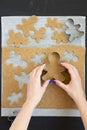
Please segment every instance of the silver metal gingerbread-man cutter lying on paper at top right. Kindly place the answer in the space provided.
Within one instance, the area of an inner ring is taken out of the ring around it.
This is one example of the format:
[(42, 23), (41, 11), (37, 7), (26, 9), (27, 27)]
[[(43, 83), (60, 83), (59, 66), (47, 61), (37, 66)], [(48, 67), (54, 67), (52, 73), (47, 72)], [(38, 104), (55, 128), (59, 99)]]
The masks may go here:
[(70, 42), (83, 36), (84, 32), (79, 30), (80, 24), (75, 25), (73, 19), (68, 19), (65, 25), (67, 26), (65, 33), (69, 35)]

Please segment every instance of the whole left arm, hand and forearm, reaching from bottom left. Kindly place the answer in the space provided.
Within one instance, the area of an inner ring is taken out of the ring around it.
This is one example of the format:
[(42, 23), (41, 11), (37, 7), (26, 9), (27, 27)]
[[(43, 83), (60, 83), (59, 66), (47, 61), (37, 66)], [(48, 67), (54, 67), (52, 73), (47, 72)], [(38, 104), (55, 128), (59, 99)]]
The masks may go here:
[(16, 119), (12, 123), (9, 130), (27, 130), (32, 113), (36, 105), (40, 102), (48, 84), (49, 80), (41, 86), (41, 74), (45, 64), (36, 67), (30, 73), (30, 80), (27, 87), (27, 98), (22, 106), (21, 111), (18, 113)]

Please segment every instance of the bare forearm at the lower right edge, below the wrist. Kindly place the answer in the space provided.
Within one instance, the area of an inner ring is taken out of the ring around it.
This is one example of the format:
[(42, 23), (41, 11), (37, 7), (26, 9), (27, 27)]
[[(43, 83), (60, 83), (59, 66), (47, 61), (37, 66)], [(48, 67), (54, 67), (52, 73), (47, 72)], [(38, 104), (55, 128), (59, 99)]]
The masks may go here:
[(80, 98), (76, 102), (76, 104), (77, 104), (77, 107), (78, 107), (78, 109), (80, 111), (85, 130), (87, 130), (87, 101), (83, 97), (82, 99)]

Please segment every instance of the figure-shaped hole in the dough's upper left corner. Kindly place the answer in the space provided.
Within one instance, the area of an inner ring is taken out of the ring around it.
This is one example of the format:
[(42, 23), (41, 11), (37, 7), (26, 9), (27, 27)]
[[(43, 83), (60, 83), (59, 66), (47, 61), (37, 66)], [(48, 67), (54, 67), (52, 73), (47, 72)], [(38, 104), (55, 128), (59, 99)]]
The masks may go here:
[(6, 64), (13, 64), (13, 67), (22, 67), (25, 69), (28, 66), (28, 63), (21, 59), (21, 55), (16, 55), (15, 51), (10, 51), (10, 58), (6, 60)]

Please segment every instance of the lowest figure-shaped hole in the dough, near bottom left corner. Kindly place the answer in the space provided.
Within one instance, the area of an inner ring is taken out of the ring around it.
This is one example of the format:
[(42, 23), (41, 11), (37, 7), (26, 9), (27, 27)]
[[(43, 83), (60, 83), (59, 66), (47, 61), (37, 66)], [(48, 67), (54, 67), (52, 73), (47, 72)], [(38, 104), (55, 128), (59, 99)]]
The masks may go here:
[(11, 94), (11, 96), (8, 96), (7, 99), (10, 101), (10, 105), (12, 105), (13, 103), (18, 103), (20, 98), (23, 97), (23, 93), (15, 93), (13, 92)]

